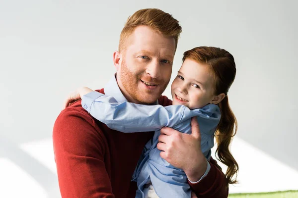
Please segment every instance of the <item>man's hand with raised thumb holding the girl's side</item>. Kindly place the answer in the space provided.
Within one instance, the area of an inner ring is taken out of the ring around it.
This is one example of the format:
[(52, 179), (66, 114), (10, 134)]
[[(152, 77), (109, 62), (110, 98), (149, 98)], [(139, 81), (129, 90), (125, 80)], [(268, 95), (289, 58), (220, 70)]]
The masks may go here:
[(184, 170), (190, 181), (201, 179), (207, 169), (207, 159), (201, 151), (201, 133), (196, 117), (191, 119), (191, 134), (169, 127), (160, 130), (157, 148), (160, 156), (176, 168)]

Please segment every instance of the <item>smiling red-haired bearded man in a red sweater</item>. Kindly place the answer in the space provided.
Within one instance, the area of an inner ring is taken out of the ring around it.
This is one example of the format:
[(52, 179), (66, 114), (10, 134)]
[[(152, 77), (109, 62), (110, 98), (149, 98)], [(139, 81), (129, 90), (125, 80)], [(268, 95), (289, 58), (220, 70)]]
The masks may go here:
[[(118, 102), (170, 105), (161, 96), (169, 83), (181, 27), (159, 9), (134, 13), (121, 32), (114, 52), (115, 77), (98, 90)], [(195, 119), (194, 119), (195, 120)], [(58, 116), (53, 130), (55, 160), (63, 198), (135, 198), (131, 182), (145, 144), (153, 132), (121, 133), (91, 117), (80, 101)], [(226, 198), (227, 182), (221, 168), (207, 162), (200, 149), (200, 132), (163, 128), (157, 148), (161, 157), (185, 171), (198, 198)]]

